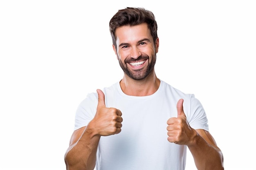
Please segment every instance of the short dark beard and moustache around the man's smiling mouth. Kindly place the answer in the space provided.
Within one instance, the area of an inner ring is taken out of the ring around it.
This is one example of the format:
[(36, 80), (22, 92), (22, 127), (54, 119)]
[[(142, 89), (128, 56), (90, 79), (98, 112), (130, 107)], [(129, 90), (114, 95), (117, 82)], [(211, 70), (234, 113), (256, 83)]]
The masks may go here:
[[(119, 58), (119, 57), (118, 57)], [(130, 78), (135, 79), (135, 80), (141, 80), (146, 78), (153, 70), (155, 67), (155, 62), (156, 62), (156, 54), (155, 56), (152, 55), (152, 60), (149, 61), (148, 66), (145, 68), (139, 68), (137, 70), (130, 70), (126, 64), (129, 64), (130, 62), (137, 62), (137, 61), (141, 61), (141, 60), (149, 60), (149, 56), (148, 55), (141, 55), (139, 56), (137, 59), (133, 59), (133, 58), (129, 58), (124, 60), (124, 63), (122, 63), (122, 61), (119, 59), (119, 65), (122, 68), (122, 70), (124, 71), (124, 73), (126, 75), (128, 75)]]

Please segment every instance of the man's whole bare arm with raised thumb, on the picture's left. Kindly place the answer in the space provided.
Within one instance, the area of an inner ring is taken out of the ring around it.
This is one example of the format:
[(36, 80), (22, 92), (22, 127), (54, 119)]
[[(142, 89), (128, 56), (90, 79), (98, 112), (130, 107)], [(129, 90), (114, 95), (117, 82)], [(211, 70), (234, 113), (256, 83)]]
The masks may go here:
[(104, 93), (100, 90), (97, 92), (99, 100), (94, 118), (87, 126), (75, 130), (70, 139), (70, 146), (65, 154), (67, 170), (93, 170), (100, 137), (121, 132), (121, 111), (107, 108)]

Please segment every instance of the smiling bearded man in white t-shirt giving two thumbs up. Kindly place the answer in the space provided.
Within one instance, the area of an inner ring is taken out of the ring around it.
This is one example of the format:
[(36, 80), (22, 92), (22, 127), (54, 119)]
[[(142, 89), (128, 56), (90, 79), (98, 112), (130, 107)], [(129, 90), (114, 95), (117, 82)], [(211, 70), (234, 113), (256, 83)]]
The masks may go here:
[(67, 170), (184, 170), (186, 146), (199, 170), (223, 170), (198, 99), (155, 74), (159, 39), (153, 13), (119, 10), (110, 33), (124, 77), (79, 105)]

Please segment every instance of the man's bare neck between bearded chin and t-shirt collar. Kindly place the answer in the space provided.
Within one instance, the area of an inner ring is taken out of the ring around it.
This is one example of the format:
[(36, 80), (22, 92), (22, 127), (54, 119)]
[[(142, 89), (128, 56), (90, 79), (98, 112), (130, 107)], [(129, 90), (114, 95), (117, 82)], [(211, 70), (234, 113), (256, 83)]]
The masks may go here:
[(148, 77), (141, 80), (132, 79), (125, 74), (120, 81), (120, 86), (126, 95), (148, 96), (157, 91), (160, 86), (160, 80), (155, 75), (155, 71), (152, 71)]

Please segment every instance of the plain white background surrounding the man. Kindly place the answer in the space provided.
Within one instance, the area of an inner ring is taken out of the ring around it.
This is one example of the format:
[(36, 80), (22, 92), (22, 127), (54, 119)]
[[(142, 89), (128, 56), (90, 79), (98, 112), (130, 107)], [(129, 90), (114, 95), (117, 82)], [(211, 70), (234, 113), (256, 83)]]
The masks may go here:
[(0, 1), (1, 169), (65, 169), (77, 106), (122, 78), (108, 22), (124, 7), (155, 13), (157, 76), (203, 104), (225, 170), (256, 169), (254, 0), (166, 2)]

